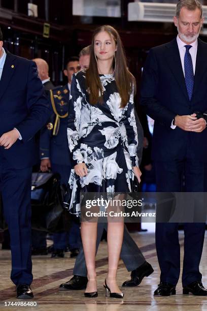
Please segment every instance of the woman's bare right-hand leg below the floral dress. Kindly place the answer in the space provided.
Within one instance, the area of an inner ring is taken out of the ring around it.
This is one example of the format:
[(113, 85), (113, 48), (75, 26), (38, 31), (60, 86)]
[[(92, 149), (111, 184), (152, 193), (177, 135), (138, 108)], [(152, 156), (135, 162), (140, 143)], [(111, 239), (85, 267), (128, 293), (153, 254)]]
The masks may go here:
[(120, 219), (120, 222), (117, 223), (108, 222), (107, 241), (109, 254), (109, 271), (106, 281), (112, 293), (121, 293), (116, 283), (116, 274), (123, 242), (123, 233), (123, 219)]

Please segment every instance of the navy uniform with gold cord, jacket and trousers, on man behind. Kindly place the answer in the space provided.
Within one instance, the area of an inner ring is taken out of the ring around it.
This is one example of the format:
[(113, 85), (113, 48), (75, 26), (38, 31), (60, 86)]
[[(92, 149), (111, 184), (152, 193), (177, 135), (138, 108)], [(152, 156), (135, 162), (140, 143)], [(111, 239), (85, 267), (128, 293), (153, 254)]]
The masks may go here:
[[(41, 171), (46, 172), (51, 168), (54, 173), (59, 173), (62, 185), (67, 184), (72, 168), (66, 135), (69, 98), (70, 90), (67, 84), (50, 90), (53, 113), (47, 125), (41, 130), (40, 137)], [(54, 233), (53, 242), (52, 257), (64, 257), (64, 249), (67, 244), (71, 251), (71, 257), (76, 257), (80, 244), (78, 220), (77, 222), (71, 220), (69, 232)]]

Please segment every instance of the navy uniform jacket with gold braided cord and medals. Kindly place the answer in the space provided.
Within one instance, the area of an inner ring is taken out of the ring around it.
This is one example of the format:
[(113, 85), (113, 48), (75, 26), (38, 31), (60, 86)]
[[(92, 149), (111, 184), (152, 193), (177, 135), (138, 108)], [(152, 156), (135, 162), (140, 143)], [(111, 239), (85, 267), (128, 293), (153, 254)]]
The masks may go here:
[[(55, 108), (60, 115), (64, 115), (68, 112), (70, 90), (66, 84), (64, 86), (56, 86), (52, 91), (53, 96), (56, 96), (56, 98), (54, 98)], [(60, 97), (59, 100), (57, 99), (57, 96)], [(56, 114), (53, 111), (52, 115), (50, 116), (50, 120), (48, 121), (53, 125), (53, 127), (55, 124), (55, 118)], [(41, 130), (41, 160), (44, 158), (49, 158), (51, 163), (72, 166), (71, 153), (67, 141), (67, 117), (59, 119), (57, 135), (53, 135), (53, 129), (50, 129), (48, 125), (46, 125)]]

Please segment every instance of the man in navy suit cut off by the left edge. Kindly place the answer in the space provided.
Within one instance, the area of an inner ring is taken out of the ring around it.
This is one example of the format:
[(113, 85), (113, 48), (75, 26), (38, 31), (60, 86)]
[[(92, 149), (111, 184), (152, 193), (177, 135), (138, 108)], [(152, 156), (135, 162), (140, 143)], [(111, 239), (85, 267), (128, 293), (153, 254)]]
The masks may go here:
[(34, 140), (50, 110), (33, 61), (3, 48), (0, 30), (0, 187), (12, 253), (17, 298), (32, 298), (31, 171), (38, 159)]

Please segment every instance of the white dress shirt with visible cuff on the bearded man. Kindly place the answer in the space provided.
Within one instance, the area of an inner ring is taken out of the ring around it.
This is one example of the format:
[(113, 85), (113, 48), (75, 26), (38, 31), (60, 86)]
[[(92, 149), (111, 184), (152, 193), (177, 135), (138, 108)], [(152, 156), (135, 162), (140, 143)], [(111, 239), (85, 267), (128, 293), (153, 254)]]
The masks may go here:
[[(177, 43), (178, 43), (178, 49), (179, 49), (179, 53), (180, 53), (180, 57), (181, 57), (181, 64), (182, 64), (182, 68), (183, 68), (183, 74), (185, 77), (185, 66), (184, 66), (184, 58), (185, 58), (185, 52), (186, 52), (186, 48), (185, 45), (187, 45), (185, 42), (183, 42), (179, 35), (177, 36)], [(192, 58), (192, 63), (193, 63), (193, 73), (195, 75), (195, 64), (196, 64), (196, 55), (197, 55), (197, 47), (198, 47), (198, 39), (196, 39), (193, 43), (190, 44), (192, 46), (192, 48), (189, 49), (189, 53), (191, 55)], [(171, 127), (172, 130), (175, 130), (176, 126), (174, 126), (171, 123)]]

